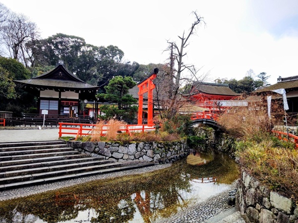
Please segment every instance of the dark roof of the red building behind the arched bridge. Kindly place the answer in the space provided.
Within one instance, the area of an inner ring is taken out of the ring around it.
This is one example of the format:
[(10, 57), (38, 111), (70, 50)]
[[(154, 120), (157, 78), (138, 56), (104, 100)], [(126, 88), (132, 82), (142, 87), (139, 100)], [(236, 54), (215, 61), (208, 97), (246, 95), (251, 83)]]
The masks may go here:
[(238, 96), (240, 94), (232, 91), (229, 88), (228, 84), (216, 84), (216, 83), (194, 83), (193, 86), (193, 93), (197, 94), (198, 92), (202, 92), (205, 94), (210, 95), (227, 95), (227, 96)]

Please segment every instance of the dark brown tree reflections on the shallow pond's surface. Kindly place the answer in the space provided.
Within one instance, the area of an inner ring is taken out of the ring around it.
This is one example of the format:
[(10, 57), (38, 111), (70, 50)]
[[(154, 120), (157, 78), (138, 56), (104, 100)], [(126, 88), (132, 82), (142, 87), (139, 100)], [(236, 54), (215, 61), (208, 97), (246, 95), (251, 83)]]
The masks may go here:
[(13, 222), (18, 215), (33, 215), (48, 223), (71, 221), (80, 211), (93, 210), (92, 223), (125, 223), (138, 210), (145, 223), (167, 218), (187, 207), (183, 193), (190, 180), (225, 175), (232, 164), (215, 155), (203, 166), (176, 162), (172, 167), (143, 175), (123, 176), (0, 202), (0, 222)]

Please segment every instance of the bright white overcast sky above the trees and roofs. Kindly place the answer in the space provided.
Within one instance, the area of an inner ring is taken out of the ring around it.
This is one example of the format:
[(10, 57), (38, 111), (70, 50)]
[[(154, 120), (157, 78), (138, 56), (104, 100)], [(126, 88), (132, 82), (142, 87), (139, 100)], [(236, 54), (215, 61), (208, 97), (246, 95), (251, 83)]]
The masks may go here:
[[(95, 46), (114, 45), (126, 61), (163, 63), (167, 40), (179, 41), (204, 17), (185, 62), (199, 75), (241, 79), (246, 71), (298, 75), (298, 0), (0, 0), (30, 17), (42, 38), (64, 33)], [(177, 42), (179, 44), (179, 42)]]

